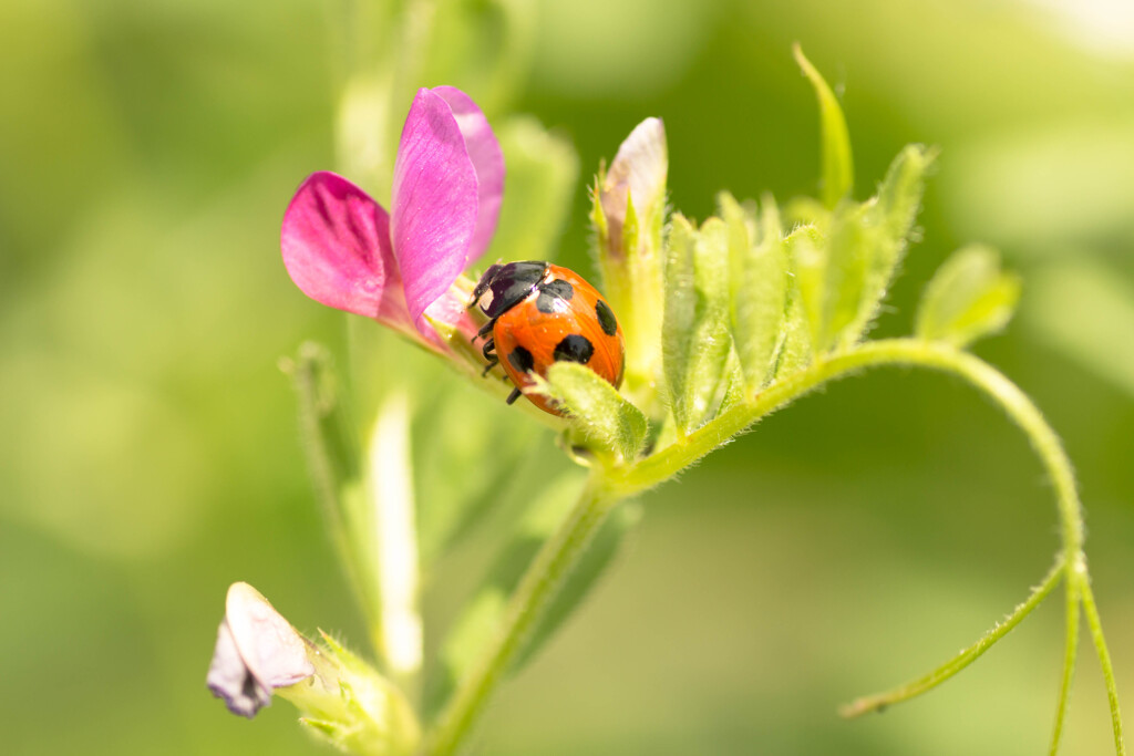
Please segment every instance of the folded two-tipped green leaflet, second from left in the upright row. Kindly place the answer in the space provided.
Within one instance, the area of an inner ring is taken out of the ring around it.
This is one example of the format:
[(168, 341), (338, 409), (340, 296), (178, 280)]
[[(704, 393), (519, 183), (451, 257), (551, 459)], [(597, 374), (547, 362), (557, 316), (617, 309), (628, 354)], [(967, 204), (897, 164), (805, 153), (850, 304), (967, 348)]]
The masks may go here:
[(721, 194), (719, 203), (728, 226), (733, 341), (752, 391), (769, 376), (787, 315), (787, 247), (771, 197), (764, 199), (759, 228), (730, 194)]

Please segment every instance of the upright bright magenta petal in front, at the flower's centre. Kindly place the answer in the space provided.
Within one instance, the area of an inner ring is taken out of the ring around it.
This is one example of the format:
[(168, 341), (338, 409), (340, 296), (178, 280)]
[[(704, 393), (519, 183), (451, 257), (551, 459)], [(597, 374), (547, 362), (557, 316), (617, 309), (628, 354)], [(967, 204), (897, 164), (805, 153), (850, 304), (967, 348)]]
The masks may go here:
[(422, 314), (468, 262), (477, 194), (476, 172), (452, 110), (440, 95), (418, 90), (393, 164), (390, 230), (406, 306), (426, 335)]

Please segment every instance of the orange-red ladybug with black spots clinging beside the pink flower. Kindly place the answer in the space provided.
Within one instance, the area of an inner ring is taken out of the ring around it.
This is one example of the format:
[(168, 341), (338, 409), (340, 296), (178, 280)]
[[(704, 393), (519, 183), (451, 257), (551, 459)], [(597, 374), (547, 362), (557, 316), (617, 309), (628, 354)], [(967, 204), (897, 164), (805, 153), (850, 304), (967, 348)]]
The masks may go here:
[[(552, 363), (586, 365), (616, 389), (623, 382), (625, 343), (610, 305), (574, 271), (530, 260), (492, 265), (481, 277), (469, 307), (489, 322), (473, 341), (491, 334), (481, 349), (489, 374), (497, 365), (515, 384), (508, 404), (545, 377)], [(562, 415), (552, 399), (530, 393), (536, 407)]]

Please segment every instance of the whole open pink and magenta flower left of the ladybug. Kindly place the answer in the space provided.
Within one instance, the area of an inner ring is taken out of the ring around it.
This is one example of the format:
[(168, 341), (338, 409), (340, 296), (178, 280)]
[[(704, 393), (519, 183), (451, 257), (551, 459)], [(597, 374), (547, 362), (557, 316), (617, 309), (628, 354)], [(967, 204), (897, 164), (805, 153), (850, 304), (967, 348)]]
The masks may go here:
[(455, 283), (488, 247), (502, 194), (503, 153), (476, 103), (451, 86), (418, 90), (391, 211), (341, 176), (312, 173), (284, 214), (284, 265), (312, 299), (443, 349), (429, 321), (468, 317)]

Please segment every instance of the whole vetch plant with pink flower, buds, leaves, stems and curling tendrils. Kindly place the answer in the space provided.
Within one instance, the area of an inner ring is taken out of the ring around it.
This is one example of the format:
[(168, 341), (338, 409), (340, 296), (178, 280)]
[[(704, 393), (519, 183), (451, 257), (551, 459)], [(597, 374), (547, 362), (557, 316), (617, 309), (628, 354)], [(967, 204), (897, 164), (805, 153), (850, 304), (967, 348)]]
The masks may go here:
[[(503, 405), (514, 387), (499, 369), (485, 371), (477, 332), (486, 318), (469, 307), (477, 275), (468, 272), (489, 248), (502, 261), (547, 249), (540, 241), (547, 224), (539, 222), (511, 230), (501, 222), (493, 243), (505, 158), (521, 155), (523, 172), (524, 160), (552, 148), (539, 142), (545, 135), (510, 124), (499, 139), (460, 90), (422, 88), (392, 170), (365, 177), (389, 197), (389, 210), (336, 173), (303, 182), (284, 218), (284, 263), (308, 297), (353, 314), (354, 377), (316, 345), (303, 346), (285, 368), (374, 659), (329, 634), (301, 635), (237, 583), (208, 677), (229, 710), (251, 717), (279, 696), (298, 708), (307, 730), (345, 753), (467, 750), (492, 695), (609, 566), (644, 494), (810, 391), (868, 368), (913, 366), (971, 384), (1023, 431), (1050, 477), (1061, 544), (1047, 575), (983, 637), (843, 713), (880, 711), (942, 683), (1063, 584), (1066, 645), (1050, 751), (1060, 744), (1085, 615), (1115, 748), (1124, 753), (1070, 464), (1035, 405), (967, 350), (1008, 322), (1019, 280), (1001, 270), (996, 250), (966, 246), (925, 287), (912, 335), (871, 339), (915, 233), (936, 152), (905, 147), (874, 196), (855, 199), (844, 114), (820, 74), (798, 49), (795, 56), (819, 101), (821, 196), (781, 205), (770, 195), (739, 202), (722, 193), (717, 214), (696, 222), (667, 206), (665, 127), (643, 121), (592, 185), (595, 284), (625, 334), (625, 376), (616, 388), (583, 360), (533, 373), (522, 388), (552, 413), (524, 399)], [(538, 145), (509, 146), (525, 139)], [(539, 195), (532, 202), (556, 196), (531, 187)], [(525, 458), (547, 435), (557, 440), (561, 465), (550, 474), (526, 469)], [(426, 623), (423, 584), (485, 521), (511, 524), (486, 546), (498, 558), (455, 620)], [(424, 638), (435, 639), (435, 654), (425, 653)]]

